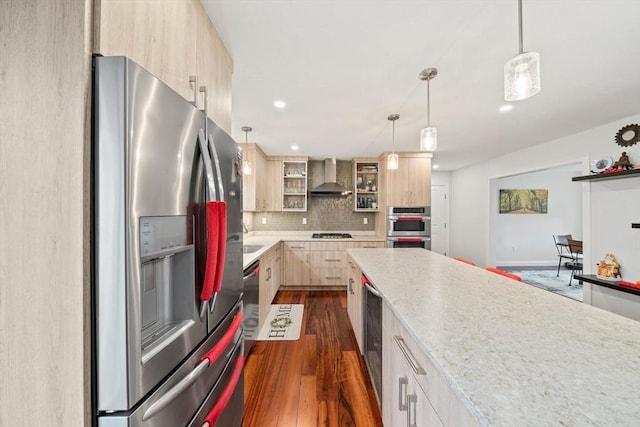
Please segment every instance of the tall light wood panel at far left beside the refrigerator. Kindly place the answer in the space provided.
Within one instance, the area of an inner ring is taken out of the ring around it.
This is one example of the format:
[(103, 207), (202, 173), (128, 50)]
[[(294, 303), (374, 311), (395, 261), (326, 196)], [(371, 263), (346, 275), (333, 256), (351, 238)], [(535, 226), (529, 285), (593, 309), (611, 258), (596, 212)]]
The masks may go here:
[(91, 12), (0, 1), (0, 426), (90, 425)]

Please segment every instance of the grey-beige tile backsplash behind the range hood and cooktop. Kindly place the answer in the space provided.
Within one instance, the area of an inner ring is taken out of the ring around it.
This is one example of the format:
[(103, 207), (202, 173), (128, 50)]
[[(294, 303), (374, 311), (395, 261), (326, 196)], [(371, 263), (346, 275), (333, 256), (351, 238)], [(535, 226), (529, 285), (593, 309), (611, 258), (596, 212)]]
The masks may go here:
[[(324, 161), (310, 160), (307, 187), (314, 188), (324, 182)], [(353, 190), (353, 163), (336, 162), (336, 181)], [(281, 183), (273, 183), (281, 185)], [(307, 199), (306, 212), (245, 212), (244, 221), (249, 231), (374, 231), (375, 214), (353, 212), (353, 194), (349, 196), (322, 196)], [(263, 218), (266, 224), (263, 224)], [(307, 223), (303, 224), (303, 218)], [(367, 224), (364, 224), (364, 218)]]

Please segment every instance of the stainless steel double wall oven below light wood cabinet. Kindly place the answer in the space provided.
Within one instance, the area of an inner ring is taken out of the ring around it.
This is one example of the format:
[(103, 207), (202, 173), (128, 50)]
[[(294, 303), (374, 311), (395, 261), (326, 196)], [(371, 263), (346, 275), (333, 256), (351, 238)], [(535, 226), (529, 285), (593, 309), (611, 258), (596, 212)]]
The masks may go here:
[(389, 206), (387, 247), (431, 249), (431, 208)]

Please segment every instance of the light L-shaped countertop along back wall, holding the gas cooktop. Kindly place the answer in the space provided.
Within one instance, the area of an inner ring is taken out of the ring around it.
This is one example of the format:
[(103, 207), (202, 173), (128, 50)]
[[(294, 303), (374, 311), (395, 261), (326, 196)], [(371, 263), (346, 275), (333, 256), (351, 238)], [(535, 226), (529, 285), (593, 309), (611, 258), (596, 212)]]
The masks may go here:
[[(247, 233), (243, 236), (242, 244), (246, 245), (262, 245), (258, 251), (244, 254), (242, 257), (243, 269), (249, 267), (254, 261), (267, 253), (269, 249), (280, 242), (384, 242), (384, 237), (378, 237), (373, 234), (358, 234), (357, 232), (337, 231), (337, 233), (349, 233), (351, 239), (323, 240), (311, 237), (313, 233), (327, 233), (327, 231), (305, 231), (305, 232), (261, 232)], [(331, 231), (329, 231), (331, 233)]]

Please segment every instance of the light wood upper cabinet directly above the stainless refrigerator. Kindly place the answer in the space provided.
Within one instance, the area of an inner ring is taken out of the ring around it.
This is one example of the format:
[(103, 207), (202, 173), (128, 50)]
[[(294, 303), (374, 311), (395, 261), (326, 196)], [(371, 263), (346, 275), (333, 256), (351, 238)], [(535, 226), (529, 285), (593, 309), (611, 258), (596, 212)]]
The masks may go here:
[[(127, 56), (231, 133), (233, 59), (199, 0), (97, 0), (95, 53)], [(195, 76), (197, 82), (191, 81)]]

